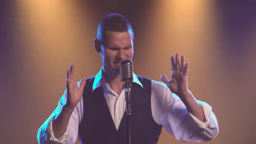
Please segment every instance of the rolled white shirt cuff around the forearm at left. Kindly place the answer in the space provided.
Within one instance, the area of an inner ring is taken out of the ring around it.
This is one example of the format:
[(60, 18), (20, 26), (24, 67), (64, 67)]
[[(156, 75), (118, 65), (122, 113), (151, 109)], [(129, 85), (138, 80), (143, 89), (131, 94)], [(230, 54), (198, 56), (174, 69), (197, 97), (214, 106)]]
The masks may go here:
[(55, 118), (55, 116), (53, 118), (49, 119), (46, 131), (45, 131), (46, 138), (49, 139), (49, 141), (53, 141), (57, 144), (62, 144), (66, 141), (66, 139), (68, 137), (69, 125), (67, 126), (66, 131), (62, 134), (62, 136), (57, 139), (53, 134), (53, 119), (54, 118)]

